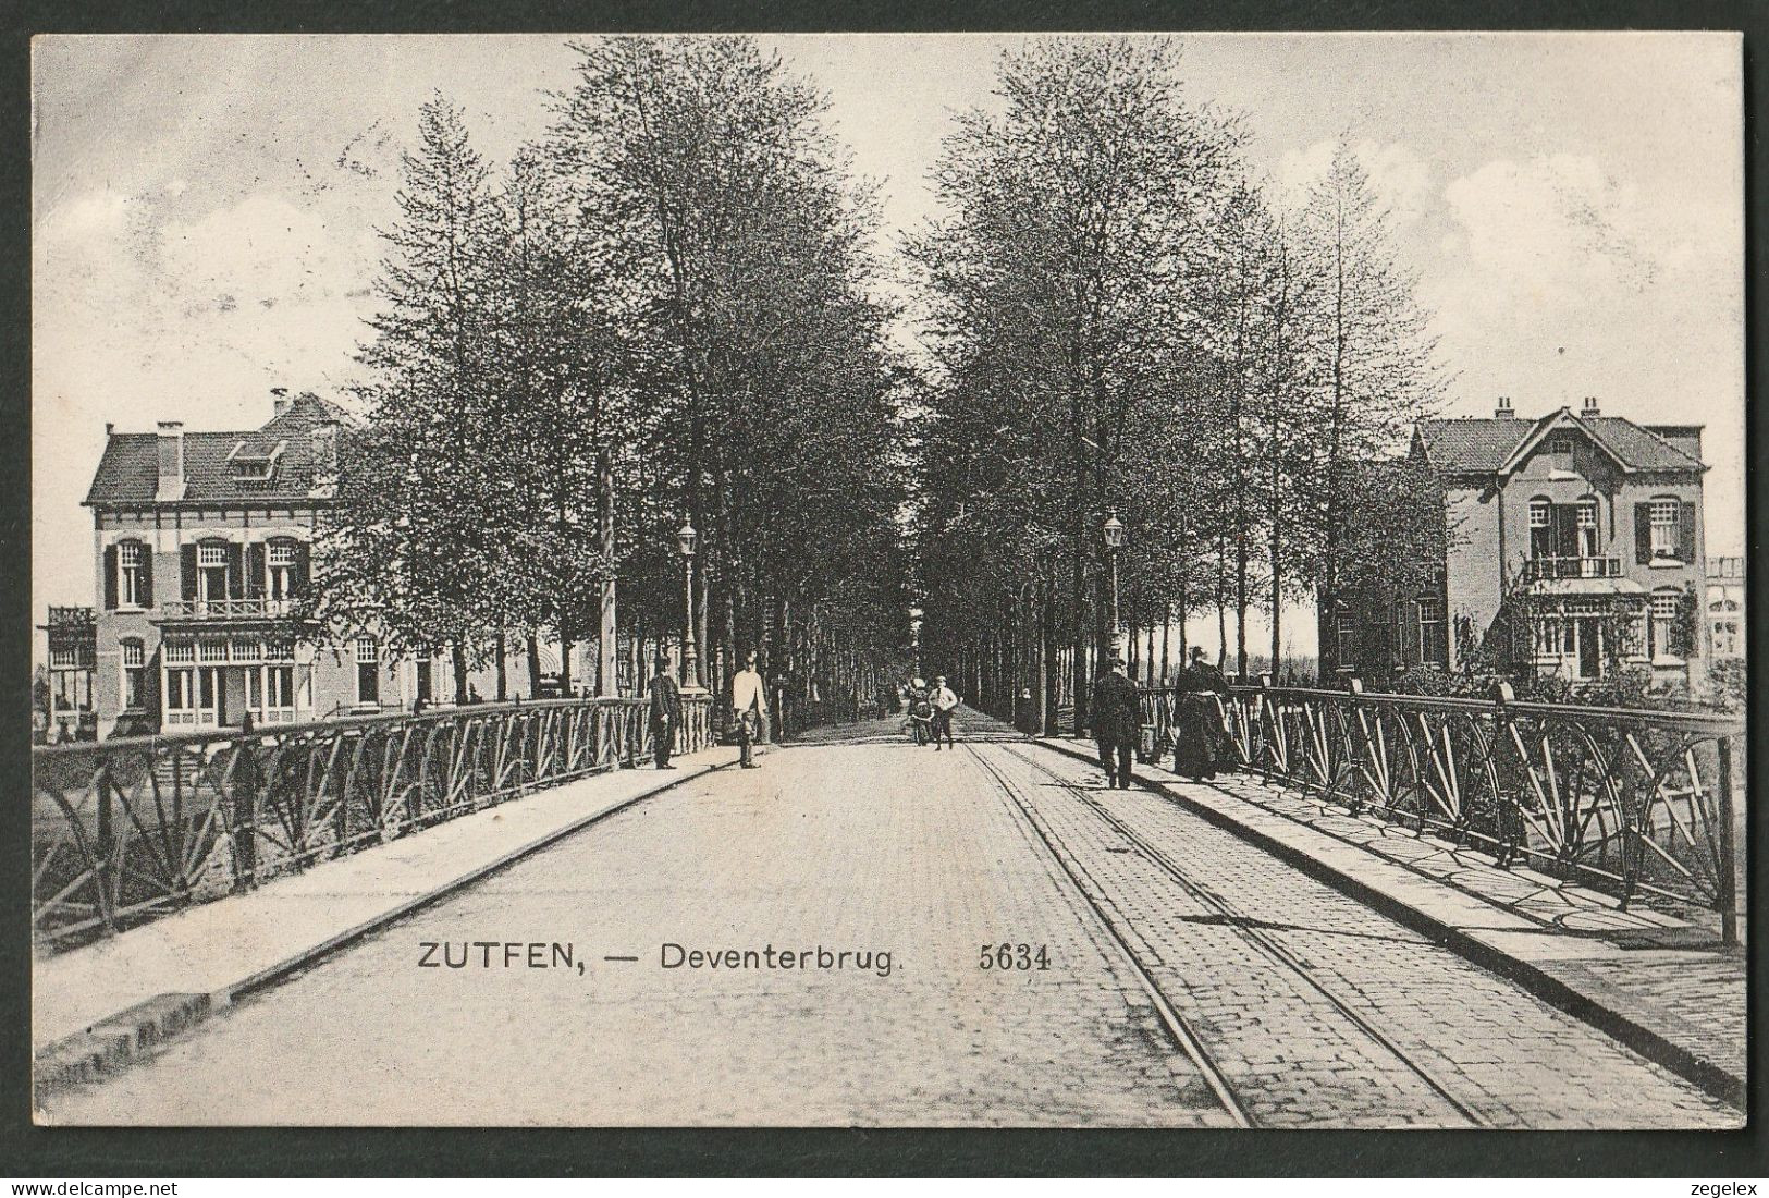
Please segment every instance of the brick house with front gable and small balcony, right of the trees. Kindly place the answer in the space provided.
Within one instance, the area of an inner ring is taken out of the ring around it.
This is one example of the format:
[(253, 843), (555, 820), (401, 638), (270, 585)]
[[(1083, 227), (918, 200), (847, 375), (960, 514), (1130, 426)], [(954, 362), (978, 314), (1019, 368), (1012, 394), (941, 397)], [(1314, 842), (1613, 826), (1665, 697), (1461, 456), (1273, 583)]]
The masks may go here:
[(1330, 621), (1341, 669), (1498, 658), (1574, 683), (1617, 667), (1702, 681), (1700, 426), (1603, 416), (1594, 398), (1523, 419), (1502, 398), (1489, 419), (1419, 421), (1410, 455), (1444, 506), (1442, 582), (1380, 607), (1348, 596)]

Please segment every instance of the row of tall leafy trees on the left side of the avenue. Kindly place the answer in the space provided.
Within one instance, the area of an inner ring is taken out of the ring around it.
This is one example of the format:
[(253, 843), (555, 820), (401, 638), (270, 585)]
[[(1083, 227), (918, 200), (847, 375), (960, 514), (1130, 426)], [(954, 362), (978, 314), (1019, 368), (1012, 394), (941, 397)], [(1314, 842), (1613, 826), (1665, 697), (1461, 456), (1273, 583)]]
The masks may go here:
[(679, 641), (692, 522), (701, 680), (757, 649), (840, 681), (907, 641), (872, 198), (824, 99), (748, 39), (573, 50), (506, 165), (446, 97), (419, 111), (313, 614), (446, 648), (456, 697), (495, 660), (502, 692), (509, 639), (538, 674), (612, 579), (623, 639)]

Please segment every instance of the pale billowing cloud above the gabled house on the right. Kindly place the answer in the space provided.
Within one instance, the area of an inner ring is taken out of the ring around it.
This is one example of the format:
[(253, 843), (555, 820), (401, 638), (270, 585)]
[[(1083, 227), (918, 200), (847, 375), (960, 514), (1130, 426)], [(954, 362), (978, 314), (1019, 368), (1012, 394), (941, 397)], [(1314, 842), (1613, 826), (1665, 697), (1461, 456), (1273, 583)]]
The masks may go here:
[(1525, 416), (1599, 396), (1613, 416), (1705, 423), (1709, 552), (1742, 545), (1742, 212), (1596, 156), (1493, 159), (1444, 189), (1422, 276), (1454, 411)]

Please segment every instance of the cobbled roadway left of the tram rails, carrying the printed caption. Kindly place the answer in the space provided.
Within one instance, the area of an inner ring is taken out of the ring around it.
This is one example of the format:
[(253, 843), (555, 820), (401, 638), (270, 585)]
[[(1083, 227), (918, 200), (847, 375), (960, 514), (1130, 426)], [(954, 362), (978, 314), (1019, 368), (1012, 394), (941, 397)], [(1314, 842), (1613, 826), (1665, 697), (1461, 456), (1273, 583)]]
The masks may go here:
[[(417, 968), (570, 941), (570, 970)], [(662, 970), (660, 945), (884, 950)], [(982, 943), (1049, 970), (978, 968)], [(458, 952), (458, 948), (456, 948)], [(637, 956), (609, 963), (603, 956)], [(785, 749), (647, 800), (50, 1099), (110, 1124), (1228, 1125), (1136, 975), (961, 754)]]

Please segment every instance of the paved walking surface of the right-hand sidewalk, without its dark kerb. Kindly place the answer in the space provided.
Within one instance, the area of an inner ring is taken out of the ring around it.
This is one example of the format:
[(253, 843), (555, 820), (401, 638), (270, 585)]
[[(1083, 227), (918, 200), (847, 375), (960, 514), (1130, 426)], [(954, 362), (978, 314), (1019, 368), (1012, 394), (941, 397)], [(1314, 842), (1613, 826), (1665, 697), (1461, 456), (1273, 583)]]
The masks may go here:
[(1422, 837), (1375, 816), (1352, 816), (1344, 807), (1254, 777), (1226, 773), (1214, 786), (1544, 927), (1573, 933), (1589, 952), (1562, 950), (1558, 959), (1537, 961), (1537, 968), (1574, 989), (1601, 989), (1608, 1005), (1744, 1076), (1750, 1042), (1744, 954), (1719, 947), (1714, 913), (1677, 908), (1672, 915), (1643, 904), (1619, 911), (1615, 899), (1596, 890), (1521, 865), (1497, 869), (1479, 849)]

